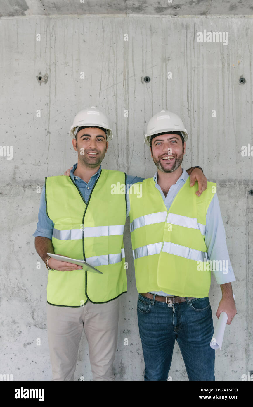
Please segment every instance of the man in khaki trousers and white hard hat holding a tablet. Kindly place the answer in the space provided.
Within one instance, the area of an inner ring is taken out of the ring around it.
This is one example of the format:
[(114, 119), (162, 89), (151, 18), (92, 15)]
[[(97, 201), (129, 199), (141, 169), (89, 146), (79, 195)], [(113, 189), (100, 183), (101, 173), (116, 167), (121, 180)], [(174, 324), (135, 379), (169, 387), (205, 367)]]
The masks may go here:
[[(35, 247), (48, 268), (47, 326), (53, 380), (74, 380), (82, 331), (89, 344), (93, 380), (115, 380), (112, 363), (117, 348), (119, 296), (126, 292), (123, 230), (125, 195), (111, 186), (143, 178), (101, 168), (112, 130), (95, 107), (80, 111), (70, 130), (78, 163), (70, 177), (45, 179), (41, 193)], [(191, 172), (191, 169), (188, 170)], [(195, 174), (195, 175), (194, 175)], [(192, 185), (205, 189), (201, 170)], [(47, 255), (84, 259), (103, 274), (82, 270)]]

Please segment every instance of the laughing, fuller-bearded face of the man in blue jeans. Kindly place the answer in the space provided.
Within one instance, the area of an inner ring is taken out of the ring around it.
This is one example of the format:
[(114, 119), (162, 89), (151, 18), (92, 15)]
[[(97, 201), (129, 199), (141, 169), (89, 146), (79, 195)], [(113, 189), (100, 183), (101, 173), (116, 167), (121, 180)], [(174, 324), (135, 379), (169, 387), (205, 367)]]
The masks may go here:
[(162, 134), (151, 140), (151, 156), (157, 168), (163, 173), (172, 173), (182, 163), (185, 142), (182, 144), (178, 134)]

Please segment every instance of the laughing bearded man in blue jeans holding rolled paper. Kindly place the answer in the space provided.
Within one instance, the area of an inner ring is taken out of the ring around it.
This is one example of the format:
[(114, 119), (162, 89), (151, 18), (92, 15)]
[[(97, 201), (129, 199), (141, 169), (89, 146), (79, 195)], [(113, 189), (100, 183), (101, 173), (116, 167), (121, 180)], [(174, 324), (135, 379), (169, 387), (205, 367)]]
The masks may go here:
[(145, 142), (158, 170), (140, 183), (142, 197), (132, 193), (133, 186), (128, 195), (145, 381), (168, 379), (175, 339), (189, 380), (215, 380), (211, 271), (203, 267), (206, 260), (225, 260), (228, 265), (226, 271), (211, 268), (222, 290), (216, 316), (225, 311), (231, 324), (236, 315), (231, 287), (235, 277), (216, 184), (208, 182), (201, 197), (196, 196), (196, 186), (190, 187), (181, 166), (187, 138), (177, 115), (162, 111), (153, 116)]

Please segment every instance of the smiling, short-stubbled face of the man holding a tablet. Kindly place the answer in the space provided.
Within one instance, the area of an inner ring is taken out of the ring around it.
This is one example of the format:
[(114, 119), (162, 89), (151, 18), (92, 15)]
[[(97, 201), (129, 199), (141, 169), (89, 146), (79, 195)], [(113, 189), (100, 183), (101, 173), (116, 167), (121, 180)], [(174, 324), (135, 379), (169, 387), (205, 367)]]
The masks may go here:
[(72, 144), (78, 152), (78, 161), (89, 168), (96, 168), (104, 160), (108, 148), (106, 133), (97, 127), (86, 127), (78, 131)]

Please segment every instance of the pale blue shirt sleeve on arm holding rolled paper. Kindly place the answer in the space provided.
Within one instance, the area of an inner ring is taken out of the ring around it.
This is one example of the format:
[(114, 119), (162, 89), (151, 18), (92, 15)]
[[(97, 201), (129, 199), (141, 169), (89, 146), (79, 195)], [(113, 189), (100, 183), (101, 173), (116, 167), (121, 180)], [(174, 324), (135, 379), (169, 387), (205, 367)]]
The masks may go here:
[[(216, 193), (206, 213), (205, 245), (217, 283), (225, 284), (227, 282), (236, 281), (229, 259), (225, 228)], [(218, 267), (218, 270), (214, 269), (214, 265), (218, 265), (217, 262), (219, 262), (220, 265), (222, 264), (222, 267)]]

